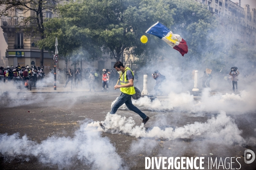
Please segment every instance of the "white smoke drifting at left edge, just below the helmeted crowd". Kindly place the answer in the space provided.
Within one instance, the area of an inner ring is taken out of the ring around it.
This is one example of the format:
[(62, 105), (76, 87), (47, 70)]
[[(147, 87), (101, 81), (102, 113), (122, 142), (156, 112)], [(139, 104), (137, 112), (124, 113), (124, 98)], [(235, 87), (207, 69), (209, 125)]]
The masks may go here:
[[(54, 76), (52, 74), (47, 74), (47, 77), (44, 77), (44, 79), (37, 81), (36, 89), (32, 89), (32, 91), (30, 91), (30, 86), (29, 88), (24, 87), (24, 81), (15, 82), (11, 80), (5, 83), (0, 82), (0, 97), (4, 98), (4, 100), (0, 101), (0, 104), (4, 107), (16, 107), (35, 103), (37, 105), (51, 106), (54, 105), (54, 103), (57, 101), (63, 102), (68, 100), (68, 107), (71, 108), (73, 104), (76, 103), (76, 101), (79, 99), (79, 97), (84, 96), (83, 93), (73, 93), (68, 95), (67, 97), (67, 94), (60, 93), (54, 98), (47, 98), (47, 94), (40, 92), (44, 92), (44, 90), (46, 89), (44, 87), (47, 87), (49, 85), (51, 85), (53, 89), (53, 77)], [(32, 92), (36, 92), (36, 94)]]

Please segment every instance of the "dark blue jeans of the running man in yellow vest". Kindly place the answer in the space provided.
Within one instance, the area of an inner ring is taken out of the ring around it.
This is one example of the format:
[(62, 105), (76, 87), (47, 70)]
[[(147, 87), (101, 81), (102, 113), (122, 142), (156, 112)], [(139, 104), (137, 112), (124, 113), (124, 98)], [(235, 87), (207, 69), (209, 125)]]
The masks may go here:
[(114, 105), (111, 108), (111, 114), (115, 114), (117, 109), (122, 106), (125, 103), (125, 105), (127, 106), (127, 108), (130, 111), (134, 111), (135, 113), (139, 114), (140, 117), (142, 119), (146, 119), (146, 115), (145, 113), (143, 113), (142, 111), (140, 111), (140, 109), (138, 109), (136, 106), (134, 106), (131, 102), (131, 95), (129, 94), (124, 94), (121, 93), (121, 95), (118, 97), (118, 99), (116, 100), (116, 102), (114, 103)]

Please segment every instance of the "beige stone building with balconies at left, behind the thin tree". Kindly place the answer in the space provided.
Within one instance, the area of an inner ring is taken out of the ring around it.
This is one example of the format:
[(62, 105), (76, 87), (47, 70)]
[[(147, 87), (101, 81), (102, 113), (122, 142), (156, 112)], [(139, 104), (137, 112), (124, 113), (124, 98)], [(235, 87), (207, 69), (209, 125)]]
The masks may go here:
[[(9, 66), (40, 66), (41, 51), (35, 46), (35, 42), (40, 40), (40, 36), (33, 32), (27, 33), (27, 31), (24, 31), (24, 21), (26, 17), (32, 15), (34, 15), (32, 11), (23, 12), (18, 8), (12, 8), (9, 10), (9, 16), (1, 17), (1, 28), (3, 29), (5, 41), (8, 45), (5, 56), (8, 59)], [(44, 20), (52, 17), (55, 17), (55, 14), (45, 11)], [(53, 56), (50, 55), (48, 51), (44, 51), (45, 73), (49, 73), (50, 69), (54, 68), (54, 60), (52, 58)], [(103, 68), (111, 69), (115, 62), (115, 59), (110, 59), (110, 55), (104, 54), (100, 59), (93, 62), (86, 62), (82, 60), (82, 66), (83, 68), (95, 68), (99, 70), (102, 70)], [(0, 66), (4, 65), (6, 64), (3, 63), (3, 65)], [(59, 58), (56, 66), (61, 69), (74, 68), (72, 62), (66, 60), (64, 57)], [(77, 65), (77, 67), (81, 66)]]

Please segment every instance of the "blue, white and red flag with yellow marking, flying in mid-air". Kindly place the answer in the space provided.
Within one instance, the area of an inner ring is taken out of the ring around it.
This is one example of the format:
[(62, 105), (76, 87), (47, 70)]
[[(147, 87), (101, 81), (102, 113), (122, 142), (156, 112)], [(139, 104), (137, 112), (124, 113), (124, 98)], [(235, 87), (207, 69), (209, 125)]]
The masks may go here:
[(173, 34), (166, 26), (157, 22), (146, 31), (147, 34), (152, 34), (165, 41), (172, 48), (179, 51), (182, 56), (188, 53), (188, 45), (186, 41), (178, 34)]

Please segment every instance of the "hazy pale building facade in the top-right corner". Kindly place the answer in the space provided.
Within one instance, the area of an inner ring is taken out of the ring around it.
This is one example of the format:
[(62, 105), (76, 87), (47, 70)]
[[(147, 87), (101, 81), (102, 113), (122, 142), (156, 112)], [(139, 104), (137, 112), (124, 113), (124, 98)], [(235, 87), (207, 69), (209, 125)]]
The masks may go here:
[(250, 5), (243, 7), (231, 0), (195, 0), (202, 3), (218, 17), (219, 24), (227, 31), (229, 38), (233, 37), (241, 43), (256, 48), (256, 8)]

